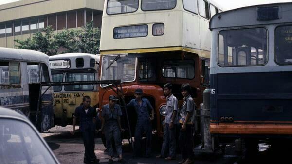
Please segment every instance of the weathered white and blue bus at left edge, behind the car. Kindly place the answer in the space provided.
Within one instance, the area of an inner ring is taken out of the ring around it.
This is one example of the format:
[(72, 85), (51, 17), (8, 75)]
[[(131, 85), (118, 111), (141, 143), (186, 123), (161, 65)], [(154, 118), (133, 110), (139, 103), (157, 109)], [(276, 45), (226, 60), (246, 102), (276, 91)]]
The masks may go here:
[(0, 48), (0, 106), (22, 113), (38, 131), (45, 131), (54, 125), (53, 92), (49, 89), (41, 97), (37, 113), (39, 85), (29, 84), (40, 82), (51, 82), (48, 55), (33, 50)]

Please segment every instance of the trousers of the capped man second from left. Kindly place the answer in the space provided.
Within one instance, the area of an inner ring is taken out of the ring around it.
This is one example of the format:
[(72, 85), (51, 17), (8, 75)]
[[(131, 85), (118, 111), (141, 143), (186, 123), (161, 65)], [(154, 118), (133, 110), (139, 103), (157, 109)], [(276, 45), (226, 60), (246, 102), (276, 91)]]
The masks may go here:
[(121, 131), (118, 125), (113, 126), (111, 128), (105, 127), (105, 135), (106, 135), (106, 141), (107, 141), (107, 149), (108, 154), (113, 157), (114, 152), (112, 149), (112, 138), (114, 139), (117, 155), (122, 155), (122, 140), (121, 140)]

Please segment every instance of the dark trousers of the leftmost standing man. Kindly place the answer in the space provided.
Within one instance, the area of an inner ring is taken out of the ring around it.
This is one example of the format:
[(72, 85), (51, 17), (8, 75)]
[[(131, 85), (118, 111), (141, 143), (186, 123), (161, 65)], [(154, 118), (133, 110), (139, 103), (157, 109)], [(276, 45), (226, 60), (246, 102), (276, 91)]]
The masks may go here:
[(82, 132), (82, 138), (85, 148), (84, 161), (90, 162), (96, 159), (94, 153), (94, 131), (85, 130)]

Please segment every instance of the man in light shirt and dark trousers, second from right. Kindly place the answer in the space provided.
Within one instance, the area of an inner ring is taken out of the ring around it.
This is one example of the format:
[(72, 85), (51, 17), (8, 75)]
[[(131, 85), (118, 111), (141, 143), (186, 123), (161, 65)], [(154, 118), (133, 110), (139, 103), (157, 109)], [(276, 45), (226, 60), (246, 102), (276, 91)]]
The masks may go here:
[[(163, 87), (166, 96), (166, 116), (163, 134), (163, 144), (161, 154), (156, 158), (165, 158), (165, 160), (175, 159), (176, 151), (176, 124), (178, 118), (178, 99), (172, 94), (172, 84), (167, 83)], [(168, 156), (167, 156), (168, 155)]]

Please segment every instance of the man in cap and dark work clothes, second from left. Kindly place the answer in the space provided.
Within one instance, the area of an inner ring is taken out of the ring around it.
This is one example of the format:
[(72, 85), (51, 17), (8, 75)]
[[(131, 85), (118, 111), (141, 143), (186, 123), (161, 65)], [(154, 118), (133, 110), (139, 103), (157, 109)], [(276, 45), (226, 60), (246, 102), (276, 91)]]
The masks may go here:
[(117, 155), (119, 156), (118, 162), (125, 163), (126, 161), (122, 156), (122, 140), (121, 140), (121, 116), (122, 111), (120, 105), (117, 105), (119, 99), (114, 95), (110, 95), (109, 103), (102, 107), (102, 125), (99, 131), (105, 130), (106, 135), (106, 146), (109, 155), (109, 164), (113, 164), (112, 158), (114, 157), (114, 152), (112, 149), (111, 138), (113, 137), (115, 142), (115, 147)]

